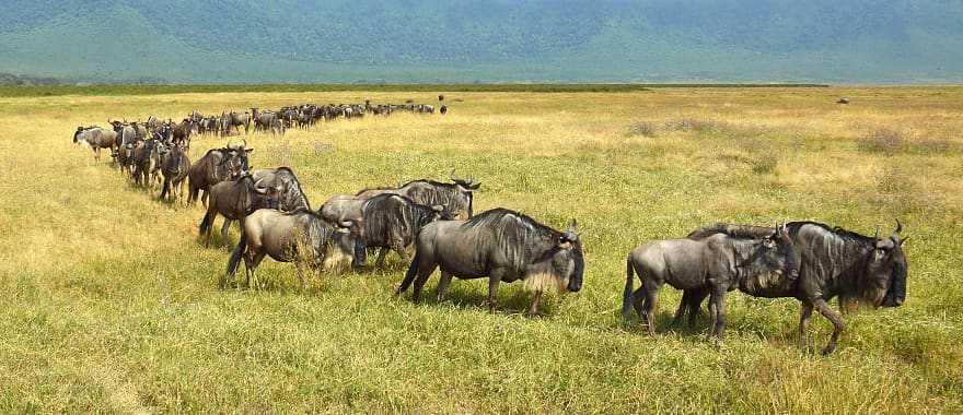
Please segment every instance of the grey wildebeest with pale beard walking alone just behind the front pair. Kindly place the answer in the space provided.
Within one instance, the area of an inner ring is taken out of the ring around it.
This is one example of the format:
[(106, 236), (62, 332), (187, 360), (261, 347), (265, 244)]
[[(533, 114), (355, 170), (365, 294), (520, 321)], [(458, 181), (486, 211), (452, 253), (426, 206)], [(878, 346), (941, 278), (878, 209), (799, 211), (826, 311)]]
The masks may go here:
[(535, 293), (529, 315), (538, 311), (545, 289), (578, 292), (584, 272), (582, 244), (572, 220), (565, 233), (507, 209), (484, 212), (467, 221), (438, 221), (418, 234), (415, 259), (398, 287), (401, 295), (414, 282), (414, 300), (436, 268), (441, 268), (438, 299), (443, 300), (452, 276), (488, 276), (488, 310), (495, 312), (500, 282), (522, 280)]

